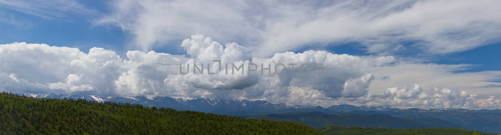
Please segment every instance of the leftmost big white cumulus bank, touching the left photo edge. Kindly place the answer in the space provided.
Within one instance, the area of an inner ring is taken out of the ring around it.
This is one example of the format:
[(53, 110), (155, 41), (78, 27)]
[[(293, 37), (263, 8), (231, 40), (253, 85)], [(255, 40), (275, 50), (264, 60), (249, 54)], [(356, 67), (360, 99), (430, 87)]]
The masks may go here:
[(122, 72), (120, 56), (103, 48), (84, 53), (77, 48), (24, 42), (0, 46), (0, 71), (9, 77), (1, 86), (7, 91), (60, 89), (61, 93), (90, 91), (110, 95), (115, 93), (113, 80)]

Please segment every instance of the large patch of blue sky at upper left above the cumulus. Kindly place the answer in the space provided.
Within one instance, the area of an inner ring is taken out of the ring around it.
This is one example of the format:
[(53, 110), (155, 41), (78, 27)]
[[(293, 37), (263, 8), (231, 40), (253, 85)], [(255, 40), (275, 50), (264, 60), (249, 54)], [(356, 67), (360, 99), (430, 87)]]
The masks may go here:
[[(103, 6), (104, 3), (92, 3), (90, 6)], [(7, 7), (2, 8), (5, 16), (13, 16), (14, 23), (2, 22), (0, 28), (2, 43), (28, 42), (46, 43), (53, 46), (77, 47), (89, 51), (92, 47), (121, 50), (127, 41), (126, 33), (121, 29), (96, 26), (74, 14), (67, 18), (46, 18)]]

